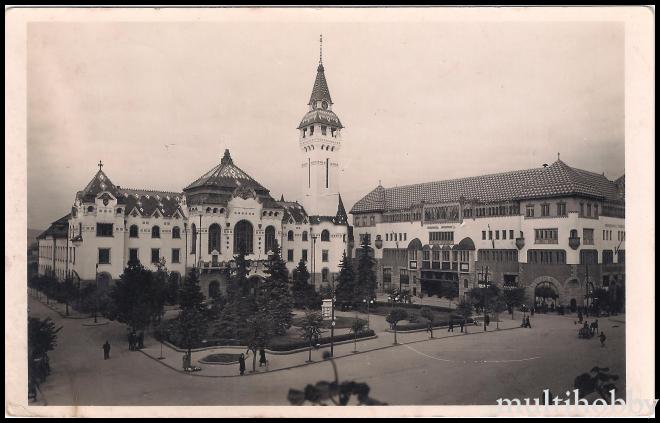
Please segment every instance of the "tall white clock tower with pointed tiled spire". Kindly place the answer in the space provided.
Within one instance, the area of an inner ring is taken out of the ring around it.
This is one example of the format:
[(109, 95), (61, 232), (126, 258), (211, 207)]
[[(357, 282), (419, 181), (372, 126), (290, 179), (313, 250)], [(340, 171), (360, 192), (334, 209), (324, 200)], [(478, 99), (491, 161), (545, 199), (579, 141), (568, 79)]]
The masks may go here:
[(303, 160), (303, 204), (310, 215), (334, 216), (339, 201), (339, 153), (341, 130), (339, 118), (332, 111), (332, 98), (323, 67), (323, 39), (316, 69), (316, 80), (309, 98), (309, 110), (303, 116), (299, 145)]

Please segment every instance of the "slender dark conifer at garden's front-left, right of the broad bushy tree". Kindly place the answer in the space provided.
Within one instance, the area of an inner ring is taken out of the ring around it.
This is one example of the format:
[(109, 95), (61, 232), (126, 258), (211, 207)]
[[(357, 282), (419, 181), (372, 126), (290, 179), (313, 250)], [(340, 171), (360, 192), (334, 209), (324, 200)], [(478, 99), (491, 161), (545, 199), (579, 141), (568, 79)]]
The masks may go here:
[(177, 316), (174, 327), (181, 340), (181, 346), (188, 350), (188, 357), (190, 357), (191, 350), (206, 338), (208, 331), (204, 294), (199, 288), (196, 268), (190, 270), (179, 291), (179, 303), (181, 312)]

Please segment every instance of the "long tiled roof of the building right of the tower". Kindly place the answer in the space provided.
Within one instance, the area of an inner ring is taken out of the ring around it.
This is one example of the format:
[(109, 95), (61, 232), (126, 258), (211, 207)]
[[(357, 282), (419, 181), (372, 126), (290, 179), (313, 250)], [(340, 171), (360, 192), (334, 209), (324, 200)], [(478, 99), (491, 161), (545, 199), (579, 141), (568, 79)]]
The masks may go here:
[(527, 170), (387, 189), (379, 185), (355, 203), (351, 213), (406, 210), (422, 202), (446, 203), (463, 199), (492, 203), (563, 195), (623, 201), (616, 184), (604, 175), (575, 169), (557, 160), (551, 166)]

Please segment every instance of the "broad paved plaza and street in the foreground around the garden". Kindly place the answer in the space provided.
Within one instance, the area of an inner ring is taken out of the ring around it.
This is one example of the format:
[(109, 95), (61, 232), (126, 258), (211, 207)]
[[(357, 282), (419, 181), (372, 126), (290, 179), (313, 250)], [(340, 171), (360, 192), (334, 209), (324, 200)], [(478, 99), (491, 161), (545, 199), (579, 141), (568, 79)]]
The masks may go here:
[[(194, 375), (181, 372), (182, 353), (147, 338), (142, 352), (131, 352), (126, 327), (117, 322), (88, 326), (93, 319), (64, 319), (56, 311), (30, 297), (30, 314), (50, 316), (63, 329), (50, 355), (52, 374), (41, 385), (33, 405), (288, 405), (290, 388), (333, 377), (332, 366), (322, 352), (313, 351), (314, 363), (305, 363), (306, 351), (269, 354), (268, 372), (245, 376), (238, 365), (204, 365)], [(362, 316), (366, 317), (366, 316)], [(489, 331), (470, 326), (469, 335), (459, 329), (451, 334), (434, 331), (399, 333), (401, 345), (392, 345), (382, 317), (370, 316), (377, 338), (336, 345), (339, 378), (366, 382), (371, 396), (391, 405), (495, 404), (498, 398), (538, 397), (543, 389), (562, 394), (572, 389), (573, 379), (594, 366), (610, 367), (625, 389), (625, 318), (601, 318), (607, 334), (605, 348), (598, 340), (577, 337), (573, 316), (536, 315), (532, 328), (519, 327), (520, 314), (491, 323)], [(103, 343), (112, 345), (110, 360), (103, 360)], [(196, 352), (193, 359), (222, 349)], [(236, 352), (233, 350), (232, 352)], [(460, 381), (460, 383), (457, 383)]]

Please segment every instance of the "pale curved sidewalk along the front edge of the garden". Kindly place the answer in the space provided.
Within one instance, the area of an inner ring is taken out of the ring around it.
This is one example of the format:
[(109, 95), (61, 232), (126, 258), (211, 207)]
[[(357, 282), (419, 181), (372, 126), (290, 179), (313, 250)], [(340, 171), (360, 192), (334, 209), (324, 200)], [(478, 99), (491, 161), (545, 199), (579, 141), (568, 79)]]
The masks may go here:
[[(374, 316), (371, 316), (372, 320), (374, 319)], [(381, 327), (382, 325), (377, 323), (375, 326)], [(488, 327), (488, 332), (490, 333), (497, 333), (498, 331), (495, 329), (496, 322), (491, 322), (490, 326)], [(499, 322), (500, 326), (500, 331), (502, 330), (511, 330), (511, 329), (519, 329), (520, 328), (520, 320), (511, 320), (511, 319), (502, 319)], [(372, 326), (373, 329), (376, 329), (375, 327)], [(397, 341), (398, 345), (393, 345), (394, 342), (394, 333), (388, 333), (385, 331), (378, 331), (377, 330), (377, 338), (375, 339), (366, 339), (357, 342), (357, 352), (354, 353), (354, 344), (353, 342), (345, 343), (345, 344), (340, 344), (337, 345), (335, 344), (334, 346), (334, 357), (335, 359), (341, 359), (343, 357), (352, 357), (356, 354), (362, 354), (365, 352), (370, 352), (370, 351), (376, 351), (376, 350), (381, 350), (385, 348), (400, 348), (401, 345), (404, 344), (413, 344), (413, 343), (418, 343), (418, 342), (446, 342), (447, 338), (452, 338), (455, 336), (471, 336), (471, 335), (479, 335), (484, 333), (483, 331), (483, 325), (481, 326), (468, 326), (468, 333), (467, 335), (464, 333), (460, 332), (460, 327), (456, 326), (454, 328), (454, 332), (447, 332), (446, 328), (442, 329), (435, 329), (433, 331), (434, 338), (429, 339), (429, 334), (425, 331), (422, 332), (410, 332), (410, 333), (405, 333), (405, 332), (398, 332), (397, 333)], [(329, 351), (330, 347), (329, 346), (324, 346), (318, 350), (312, 350), (312, 363), (307, 363), (306, 360), (309, 358), (309, 352), (308, 351), (302, 351), (302, 352), (294, 352), (291, 354), (266, 354), (266, 357), (268, 358), (269, 361), (269, 366), (268, 366), (268, 373), (272, 373), (274, 371), (280, 371), (280, 370), (286, 370), (286, 369), (291, 369), (295, 367), (302, 367), (302, 366), (309, 366), (309, 365), (314, 365), (318, 363), (322, 363), (323, 360), (323, 353), (325, 351)], [(152, 358), (153, 360), (184, 374), (189, 374), (191, 376), (200, 376), (200, 377), (240, 377), (239, 375), (239, 369), (238, 369), (238, 364), (227, 364), (227, 365), (222, 365), (222, 364), (205, 364), (205, 363), (200, 363), (199, 360), (206, 357), (207, 355), (210, 354), (218, 354), (218, 353), (244, 353), (245, 348), (243, 347), (218, 347), (218, 348), (212, 348), (204, 351), (193, 351), (192, 352), (192, 363), (194, 366), (200, 367), (202, 370), (199, 372), (194, 372), (194, 373), (187, 373), (182, 370), (182, 362), (183, 362), (183, 352), (176, 351), (167, 345), (162, 346), (162, 351), (163, 351), (163, 359), (159, 360), (158, 357), (160, 357), (160, 352), (161, 352), (161, 344), (160, 342), (156, 341), (154, 338), (147, 338), (145, 339), (145, 348), (140, 350), (143, 354), (147, 355), (148, 357)], [(257, 357), (257, 364), (256, 364), (256, 372), (251, 373), (252, 371), (252, 355), (250, 354), (247, 356), (245, 360), (245, 376), (255, 376), (259, 374), (264, 374), (266, 373), (265, 368), (259, 368), (259, 358)]]

